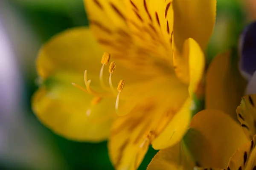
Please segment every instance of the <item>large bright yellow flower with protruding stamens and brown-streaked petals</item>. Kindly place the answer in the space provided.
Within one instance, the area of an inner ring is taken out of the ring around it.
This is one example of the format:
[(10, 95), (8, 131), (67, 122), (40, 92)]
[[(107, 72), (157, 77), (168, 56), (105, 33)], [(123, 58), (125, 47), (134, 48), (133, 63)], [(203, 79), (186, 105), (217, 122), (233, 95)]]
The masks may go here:
[(33, 109), (68, 139), (108, 139), (113, 166), (136, 169), (150, 144), (166, 148), (186, 133), (216, 0), (84, 3), (90, 28), (64, 31), (41, 48)]

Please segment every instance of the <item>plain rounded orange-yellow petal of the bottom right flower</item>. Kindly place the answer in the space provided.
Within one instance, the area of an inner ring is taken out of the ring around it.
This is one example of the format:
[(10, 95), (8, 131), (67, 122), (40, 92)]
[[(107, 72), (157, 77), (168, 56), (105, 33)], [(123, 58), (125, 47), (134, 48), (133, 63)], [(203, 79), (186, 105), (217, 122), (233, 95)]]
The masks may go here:
[(226, 167), (236, 149), (247, 142), (239, 124), (221, 111), (201, 111), (193, 117), (190, 126), (205, 136), (212, 148), (211, 155), (204, 152), (193, 154), (202, 167)]

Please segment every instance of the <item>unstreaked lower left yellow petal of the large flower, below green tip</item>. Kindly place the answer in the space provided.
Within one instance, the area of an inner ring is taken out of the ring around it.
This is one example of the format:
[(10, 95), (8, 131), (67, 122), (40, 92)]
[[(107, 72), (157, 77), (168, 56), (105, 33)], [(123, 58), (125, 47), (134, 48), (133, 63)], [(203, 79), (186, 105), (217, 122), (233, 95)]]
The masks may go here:
[(34, 94), (33, 111), (55, 133), (67, 139), (100, 142), (108, 138), (115, 99), (94, 98), (71, 85), (83, 75), (55, 73)]

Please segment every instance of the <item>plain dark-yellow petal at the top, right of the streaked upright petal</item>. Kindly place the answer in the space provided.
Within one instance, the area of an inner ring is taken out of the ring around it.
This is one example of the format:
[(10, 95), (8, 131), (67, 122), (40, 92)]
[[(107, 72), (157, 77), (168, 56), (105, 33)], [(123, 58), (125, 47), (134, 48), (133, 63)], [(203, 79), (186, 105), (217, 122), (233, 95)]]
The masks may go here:
[(205, 50), (216, 16), (216, 0), (173, 0), (174, 39), (179, 51), (193, 38)]

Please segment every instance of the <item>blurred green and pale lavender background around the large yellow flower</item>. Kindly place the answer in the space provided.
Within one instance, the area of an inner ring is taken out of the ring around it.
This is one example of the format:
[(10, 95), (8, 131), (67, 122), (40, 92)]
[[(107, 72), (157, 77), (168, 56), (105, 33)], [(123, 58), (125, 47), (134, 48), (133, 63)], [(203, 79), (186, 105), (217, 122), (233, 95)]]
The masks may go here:
[[(238, 44), (256, 18), (256, 0), (217, 0), (207, 63)], [(107, 142), (72, 142), (41, 125), (31, 111), (35, 59), (50, 37), (87, 26), (82, 0), (0, 0), (0, 170), (112, 170)], [(157, 151), (148, 151), (140, 170)]]

